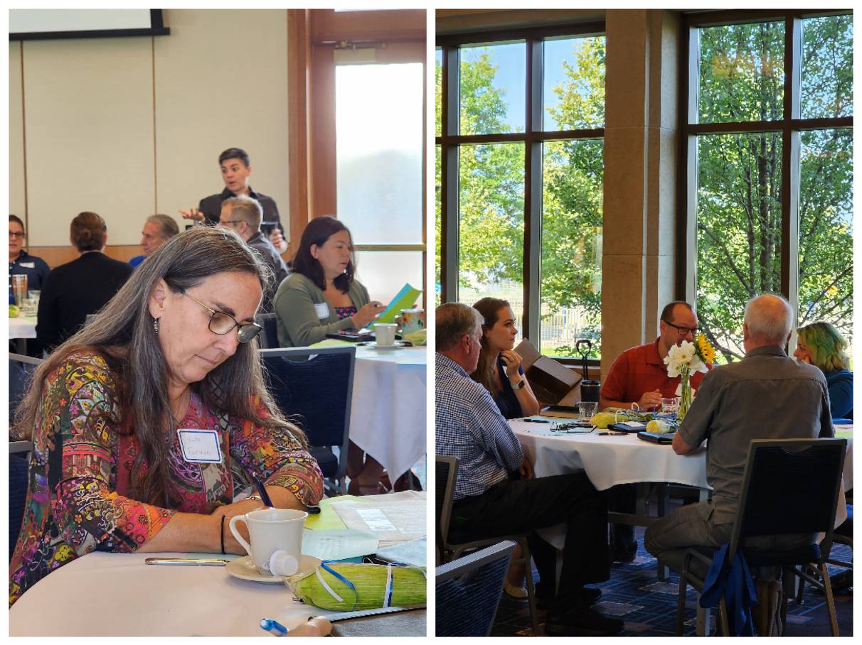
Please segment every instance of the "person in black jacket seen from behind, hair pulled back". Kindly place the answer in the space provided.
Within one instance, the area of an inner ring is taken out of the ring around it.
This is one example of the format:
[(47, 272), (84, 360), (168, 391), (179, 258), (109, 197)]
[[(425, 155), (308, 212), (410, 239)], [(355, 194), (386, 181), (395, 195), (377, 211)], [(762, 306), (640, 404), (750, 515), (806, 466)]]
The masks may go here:
[(78, 214), (69, 239), (81, 256), (48, 273), (39, 299), (36, 338), (47, 352), (77, 332), (88, 313), (104, 307), (134, 270), (103, 253), (108, 227), (95, 213)]

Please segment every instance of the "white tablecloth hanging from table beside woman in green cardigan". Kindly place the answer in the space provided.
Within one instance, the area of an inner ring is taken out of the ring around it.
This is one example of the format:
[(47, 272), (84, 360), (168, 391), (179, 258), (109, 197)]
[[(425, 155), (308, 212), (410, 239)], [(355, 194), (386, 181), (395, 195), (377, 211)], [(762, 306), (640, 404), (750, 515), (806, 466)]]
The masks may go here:
[(426, 363), (425, 347), (356, 348), (350, 438), (391, 481), (425, 454)]

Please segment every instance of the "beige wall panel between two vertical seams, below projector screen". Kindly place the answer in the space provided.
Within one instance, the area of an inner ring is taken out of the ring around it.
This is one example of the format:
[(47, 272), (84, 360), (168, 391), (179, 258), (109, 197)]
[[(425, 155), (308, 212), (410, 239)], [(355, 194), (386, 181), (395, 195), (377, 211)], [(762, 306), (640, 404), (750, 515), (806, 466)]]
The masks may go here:
[(84, 210), (136, 243), (155, 203), (152, 40), (33, 40), (23, 57), (29, 243), (68, 244)]

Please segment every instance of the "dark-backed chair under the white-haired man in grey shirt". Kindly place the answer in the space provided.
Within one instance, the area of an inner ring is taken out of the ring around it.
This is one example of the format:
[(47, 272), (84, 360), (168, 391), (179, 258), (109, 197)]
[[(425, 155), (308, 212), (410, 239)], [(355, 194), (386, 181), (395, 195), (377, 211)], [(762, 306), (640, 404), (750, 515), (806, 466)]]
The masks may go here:
[[(728, 563), (742, 549), (748, 566), (781, 567), (784, 572), (784, 600), (781, 623), (785, 624), (787, 597), (793, 575), (805, 576), (796, 566), (813, 563), (823, 579), (833, 636), (838, 621), (829, 585), (827, 561), (833, 542), (833, 524), (846, 439), (755, 439), (748, 449), (743, 474), (740, 505), (728, 546)], [(757, 536), (825, 534), (821, 543), (778, 551), (758, 551), (746, 547), (746, 539)], [(677, 635), (682, 635), (685, 590), (703, 591), (707, 571), (715, 555), (713, 549), (677, 549), (661, 562), (678, 572), (679, 596)], [(721, 630), (729, 634), (728, 608), (721, 599)]]

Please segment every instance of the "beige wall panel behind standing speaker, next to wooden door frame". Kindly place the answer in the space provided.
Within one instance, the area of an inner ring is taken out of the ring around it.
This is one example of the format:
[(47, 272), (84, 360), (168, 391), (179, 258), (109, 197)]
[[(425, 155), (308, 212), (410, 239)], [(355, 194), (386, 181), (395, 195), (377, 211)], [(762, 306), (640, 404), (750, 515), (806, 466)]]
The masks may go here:
[(155, 40), (154, 57), (159, 213), (221, 192), (218, 155), (240, 147), (252, 188), (275, 199), (287, 233), (287, 11), (165, 14), (171, 35)]

